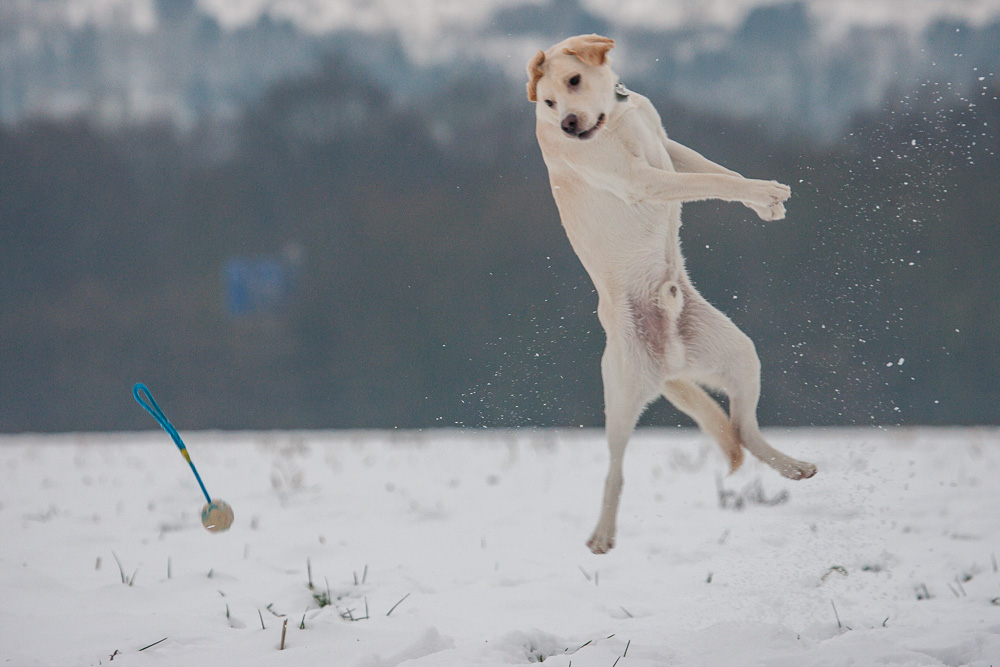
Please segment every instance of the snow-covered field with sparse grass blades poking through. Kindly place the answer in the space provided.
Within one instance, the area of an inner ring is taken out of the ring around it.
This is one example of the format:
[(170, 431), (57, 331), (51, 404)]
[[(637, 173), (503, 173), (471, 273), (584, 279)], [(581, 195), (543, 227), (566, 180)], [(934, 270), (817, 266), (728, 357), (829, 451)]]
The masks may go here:
[(1000, 665), (996, 429), (182, 435), (0, 438), (0, 665)]

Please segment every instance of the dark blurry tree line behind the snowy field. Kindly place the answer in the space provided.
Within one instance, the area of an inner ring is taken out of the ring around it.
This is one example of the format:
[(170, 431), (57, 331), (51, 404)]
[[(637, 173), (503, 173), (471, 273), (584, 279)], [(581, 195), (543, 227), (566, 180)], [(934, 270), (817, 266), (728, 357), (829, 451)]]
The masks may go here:
[[(757, 344), (763, 423), (997, 423), (1000, 102), (974, 91), (901, 93), (835, 145), (643, 91), (673, 138), (792, 186), (786, 221), (709, 202), (682, 230)], [(136, 381), (181, 429), (601, 424), (596, 296), (533, 124), (497, 72), (402, 105), (334, 58), (223, 149), (0, 131), (0, 431), (151, 428)], [(228, 262), (289, 253), (276, 305), (227, 308)]]

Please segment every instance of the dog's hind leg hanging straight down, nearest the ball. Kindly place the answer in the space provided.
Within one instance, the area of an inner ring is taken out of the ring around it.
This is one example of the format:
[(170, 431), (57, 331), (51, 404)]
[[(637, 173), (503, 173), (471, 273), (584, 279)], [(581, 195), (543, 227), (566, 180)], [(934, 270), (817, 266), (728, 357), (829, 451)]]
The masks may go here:
[(618, 501), (623, 484), (625, 447), (635, 429), (643, 408), (655, 395), (646, 391), (644, 374), (630, 354), (628, 344), (615, 342), (611, 336), (601, 359), (604, 379), (604, 428), (607, 431), (610, 460), (604, 482), (601, 516), (587, 546), (595, 554), (603, 554), (615, 546), (618, 521)]

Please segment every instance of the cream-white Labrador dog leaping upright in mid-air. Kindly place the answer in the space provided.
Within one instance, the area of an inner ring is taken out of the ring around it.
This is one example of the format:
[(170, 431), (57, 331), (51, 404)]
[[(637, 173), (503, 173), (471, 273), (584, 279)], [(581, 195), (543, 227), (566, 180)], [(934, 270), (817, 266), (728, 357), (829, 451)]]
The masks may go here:
[[(613, 46), (598, 35), (571, 37), (528, 63), (552, 195), (597, 288), (607, 336), (601, 373), (611, 461), (587, 543), (594, 553), (614, 547), (625, 446), (660, 395), (718, 441), (732, 470), (743, 461), (742, 445), (789, 479), (816, 474), (761, 436), (753, 342), (695, 291), (679, 239), (682, 202), (741, 202), (764, 220), (780, 220), (791, 190), (743, 178), (668, 139), (649, 100), (611, 70)], [(729, 416), (699, 385), (729, 396)]]

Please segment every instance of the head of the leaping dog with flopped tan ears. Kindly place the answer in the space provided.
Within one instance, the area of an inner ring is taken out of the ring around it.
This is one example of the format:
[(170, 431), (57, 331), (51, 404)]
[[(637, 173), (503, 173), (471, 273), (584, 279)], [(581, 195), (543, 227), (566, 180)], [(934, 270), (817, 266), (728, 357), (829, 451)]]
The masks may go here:
[(568, 139), (596, 135), (616, 104), (618, 77), (608, 58), (614, 45), (607, 37), (580, 35), (539, 51), (528, 63), (528, 99), (538, 119)]

